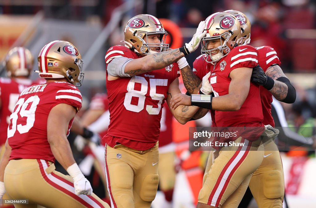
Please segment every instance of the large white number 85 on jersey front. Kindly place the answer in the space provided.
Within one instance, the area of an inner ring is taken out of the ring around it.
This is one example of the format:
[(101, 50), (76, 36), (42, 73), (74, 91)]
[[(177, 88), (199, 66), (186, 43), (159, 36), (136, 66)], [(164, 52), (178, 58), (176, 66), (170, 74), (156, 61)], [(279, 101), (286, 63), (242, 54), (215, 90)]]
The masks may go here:
[[(141, 84), (140, 90), (135, 90), (135, 83)], [(163, 94), (156, 93), (156, 86), (167, 86), (168, 79), (149, 79), (149, 95), (151, 99), (158, 101), (158, 107), (146, 105), (146, 111), (151, 115), (158, 115), (161, 110), (162, 100), (165, 98)], [(127, 84), (127, 93), (124, 99), (124, 106), (126, 110), (133, 112), (140, 112), (145, 107), (145, 99), (148, 91), (148, 82), (144, 77), (133, 76)], [(137, 105), (131, 104), (132, 97), (138, 98)]]

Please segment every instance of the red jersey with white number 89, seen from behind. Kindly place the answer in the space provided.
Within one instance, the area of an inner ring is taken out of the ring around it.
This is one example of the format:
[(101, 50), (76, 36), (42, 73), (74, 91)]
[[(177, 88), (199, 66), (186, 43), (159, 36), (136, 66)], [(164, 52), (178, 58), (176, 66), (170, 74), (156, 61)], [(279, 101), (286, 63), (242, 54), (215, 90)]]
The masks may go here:
[(66, 103), (79, 111), (82, 105), (80, 91), (68, 82), (49, 82), (32, 85), (21, 92), (8, 127), (8, 141), (12, 148), (9, 159), (55, 162), (47, 141), (47, 119), (51, 109), (59, 103)]

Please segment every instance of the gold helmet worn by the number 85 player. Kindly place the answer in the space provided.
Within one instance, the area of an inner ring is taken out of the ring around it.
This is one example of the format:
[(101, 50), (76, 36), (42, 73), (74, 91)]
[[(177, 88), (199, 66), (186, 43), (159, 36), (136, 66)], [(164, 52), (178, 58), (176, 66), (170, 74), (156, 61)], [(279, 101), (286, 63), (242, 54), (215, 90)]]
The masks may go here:
[[(160, 44), (148, 43), (148, 35), (160, 34)], [(161, 22), (153, 15), (140, 14), (128, 20), (124, 28), (125, 45), (138, 54), (148, 55), (153, 53), (151, 48), (160, 47), (166, 51), (169, 44), (164, 43), (168, 33)]]

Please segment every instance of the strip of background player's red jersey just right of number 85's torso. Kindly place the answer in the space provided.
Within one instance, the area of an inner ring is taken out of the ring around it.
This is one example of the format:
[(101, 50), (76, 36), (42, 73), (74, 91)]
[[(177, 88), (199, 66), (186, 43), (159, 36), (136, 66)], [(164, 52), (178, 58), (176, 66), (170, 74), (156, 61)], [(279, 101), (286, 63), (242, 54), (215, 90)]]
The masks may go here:
[(167, 105), (163, 104), (160, 120), (159, 147), (163, 147), (172, 142), (172, 119), (173, 115)]

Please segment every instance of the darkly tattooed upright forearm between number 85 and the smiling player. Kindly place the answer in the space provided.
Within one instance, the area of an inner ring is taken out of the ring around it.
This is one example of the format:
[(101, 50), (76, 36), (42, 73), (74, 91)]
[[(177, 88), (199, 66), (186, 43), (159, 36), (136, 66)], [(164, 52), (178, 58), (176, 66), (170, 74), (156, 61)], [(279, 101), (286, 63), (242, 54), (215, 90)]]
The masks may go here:
[(201, 80), (193, 73), (189, 65), (180, 70), (185, 89), (190, 94), (197, 94), (201, 88)]

